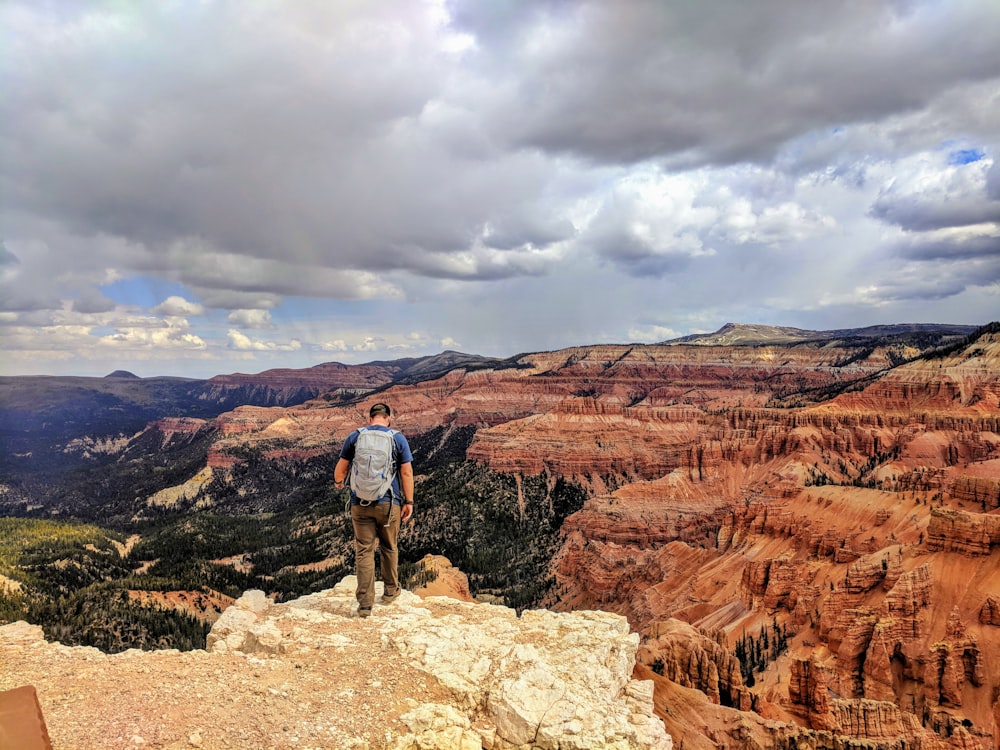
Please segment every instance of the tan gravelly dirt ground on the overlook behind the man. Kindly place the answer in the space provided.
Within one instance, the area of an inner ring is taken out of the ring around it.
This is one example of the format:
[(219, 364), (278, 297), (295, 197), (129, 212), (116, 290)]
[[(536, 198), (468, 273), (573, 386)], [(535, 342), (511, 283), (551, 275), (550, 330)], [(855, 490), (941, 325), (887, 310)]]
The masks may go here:
[(408, 733), (402, 714), (451, 698), (379, 653), (378, 619), (341, 618), (281, 657), (0, 637), (0, 690), (35, 686), (55, 750), (385, 748)]

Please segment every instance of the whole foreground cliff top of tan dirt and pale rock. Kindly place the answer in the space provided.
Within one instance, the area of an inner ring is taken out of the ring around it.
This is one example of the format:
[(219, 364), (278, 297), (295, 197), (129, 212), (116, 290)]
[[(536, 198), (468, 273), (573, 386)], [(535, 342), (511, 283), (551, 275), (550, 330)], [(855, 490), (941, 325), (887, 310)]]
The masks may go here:
[(6, 625), (0, 690), (34, 685), (62, 750), (672, 748), (625, 618), (404, 591), (361, 620), (355, 585), (246, 592), (204, 651), (105, 654)]

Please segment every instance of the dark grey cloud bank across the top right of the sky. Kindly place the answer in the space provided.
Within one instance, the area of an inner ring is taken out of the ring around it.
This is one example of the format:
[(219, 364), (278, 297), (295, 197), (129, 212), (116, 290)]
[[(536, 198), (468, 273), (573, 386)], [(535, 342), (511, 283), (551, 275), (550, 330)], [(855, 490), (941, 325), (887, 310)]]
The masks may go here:
[(769, 159), (1000, 71), (990, 0), (495, 5), (455, 4), (506, 83), (496, 137), (603, 162)]

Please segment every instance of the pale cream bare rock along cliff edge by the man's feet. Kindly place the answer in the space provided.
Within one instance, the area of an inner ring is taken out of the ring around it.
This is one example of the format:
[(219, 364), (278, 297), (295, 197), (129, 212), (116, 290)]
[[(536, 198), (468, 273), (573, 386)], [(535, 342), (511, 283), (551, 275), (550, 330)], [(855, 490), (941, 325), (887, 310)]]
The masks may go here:
[[(223, 613), (208, 649), (268, 656), (312, 648), (309, 622), (350, 617), (353, 576), (329, 591), (274, 604), (247, 592)], [(383, 654), (396, 652), (455, 696), (403, 717), (413, 731), (397, 747), (454, 747), (478, 734), (484, 747), (649, 748), (669, 750), (653, 715), (653, 686), (631, 679), (638, 636), (603, 612), (556, 614), (458, 602), (421, 601), (404, 591), (391, 616), (374, 620)]]

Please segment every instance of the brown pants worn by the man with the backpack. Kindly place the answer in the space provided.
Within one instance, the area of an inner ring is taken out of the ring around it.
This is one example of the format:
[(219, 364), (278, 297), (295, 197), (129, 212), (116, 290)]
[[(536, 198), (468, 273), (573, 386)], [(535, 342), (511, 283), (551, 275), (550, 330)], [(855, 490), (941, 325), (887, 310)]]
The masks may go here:
[(379, 550), (385, 594), (399, 592), (399, 506), (393, 503), (354, 505), (354, 569), (358, 576), (358, 608), (371, 609), (375, 602), (375, 548)]

